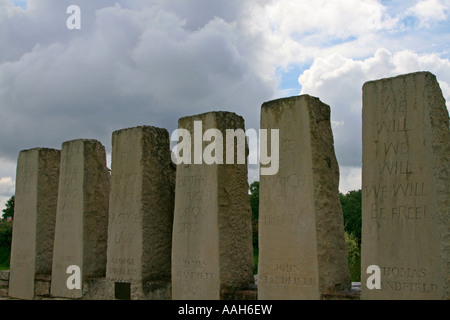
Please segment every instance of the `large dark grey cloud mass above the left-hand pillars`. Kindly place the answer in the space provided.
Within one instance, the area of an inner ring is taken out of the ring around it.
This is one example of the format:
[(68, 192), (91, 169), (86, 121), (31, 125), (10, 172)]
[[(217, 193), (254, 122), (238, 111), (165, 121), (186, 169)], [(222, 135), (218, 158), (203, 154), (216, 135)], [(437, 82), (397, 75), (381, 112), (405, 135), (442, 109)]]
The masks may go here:
[(246, 45), (259, 40), (235, 21), (240, 2), (221, 14), (229, 1), (201, 12), (181, 1), (80, 1), (80, 32), (66, 28), (69, 3), (30, 0), (20, 16), (0, 19), (2, 48), (10, 48), (0, 53), (0, 135), (9, 137), (1, 156), (76, 138), (109, 148), (114, 130), (171, 131), (179, 117), (211, 110), (259, 126), (255, 110), (277, 83), (261, 77), (258, 51)]

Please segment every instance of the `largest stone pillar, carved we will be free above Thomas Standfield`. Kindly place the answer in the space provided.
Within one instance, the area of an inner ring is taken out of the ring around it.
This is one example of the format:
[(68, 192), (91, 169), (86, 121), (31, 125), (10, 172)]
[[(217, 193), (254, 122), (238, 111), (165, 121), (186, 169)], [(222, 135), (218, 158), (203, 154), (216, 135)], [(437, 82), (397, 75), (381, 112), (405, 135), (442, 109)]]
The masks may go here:
[[(449, 155), (433, 74), (364, 84), (362, 299), (450, 298)], [(380, 290), (366, 286), (370, 265)]]

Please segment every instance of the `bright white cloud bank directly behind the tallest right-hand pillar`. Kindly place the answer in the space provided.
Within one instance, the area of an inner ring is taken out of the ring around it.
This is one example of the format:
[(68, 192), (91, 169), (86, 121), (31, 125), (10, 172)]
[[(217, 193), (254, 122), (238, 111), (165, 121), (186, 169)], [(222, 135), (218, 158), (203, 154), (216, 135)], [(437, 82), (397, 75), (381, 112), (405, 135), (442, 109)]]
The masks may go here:
[[(335, 138), (335, 150), (341, 167), (361, 166), (361, 108), (362, 86), (366, 81), (417, 71), (434, 73), (443, 95), (450, 99), (450, 60), (436, 54), (423, 54), (409, 50), (391, 53), (379, 49), (373, 57), (354, 60), (339, 54), (317, 58), (299, 77), (301, 94), (319, 97), (330, 105)], [(347, 187), (356, 182), (342, 177)], [(354, 188), (357, 186), (355, 185)]]

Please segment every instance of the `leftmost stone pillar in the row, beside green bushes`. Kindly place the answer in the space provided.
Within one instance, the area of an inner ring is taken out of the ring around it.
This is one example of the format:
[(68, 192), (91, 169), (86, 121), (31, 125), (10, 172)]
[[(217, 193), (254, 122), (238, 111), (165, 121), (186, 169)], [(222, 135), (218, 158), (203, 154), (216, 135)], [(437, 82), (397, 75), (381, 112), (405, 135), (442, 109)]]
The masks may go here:
[(36, 275), (52, 272), (60, 151), (21, 151), (17, 161), (9, 294), (34, 298)]

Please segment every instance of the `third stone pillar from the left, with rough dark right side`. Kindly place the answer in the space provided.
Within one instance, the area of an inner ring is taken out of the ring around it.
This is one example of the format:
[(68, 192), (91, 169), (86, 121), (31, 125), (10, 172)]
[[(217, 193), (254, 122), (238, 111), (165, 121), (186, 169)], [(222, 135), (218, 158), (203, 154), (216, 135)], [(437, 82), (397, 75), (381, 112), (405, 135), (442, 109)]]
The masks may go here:
[(170, 283), (175, 165), (166, 129), (115, 131), (112, 146), (106, 275), (140, 299), (143, 283)]

